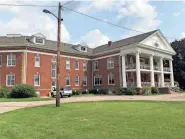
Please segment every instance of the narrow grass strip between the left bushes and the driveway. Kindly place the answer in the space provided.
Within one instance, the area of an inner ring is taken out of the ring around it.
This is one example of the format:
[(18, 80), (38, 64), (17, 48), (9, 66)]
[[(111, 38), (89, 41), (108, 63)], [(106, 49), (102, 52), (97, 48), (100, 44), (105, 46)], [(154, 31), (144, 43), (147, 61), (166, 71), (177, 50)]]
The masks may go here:
[(0, 102), (26, 102), (26, 101), (45, 101), (52, 100), (53, 98), (0, 98)]

